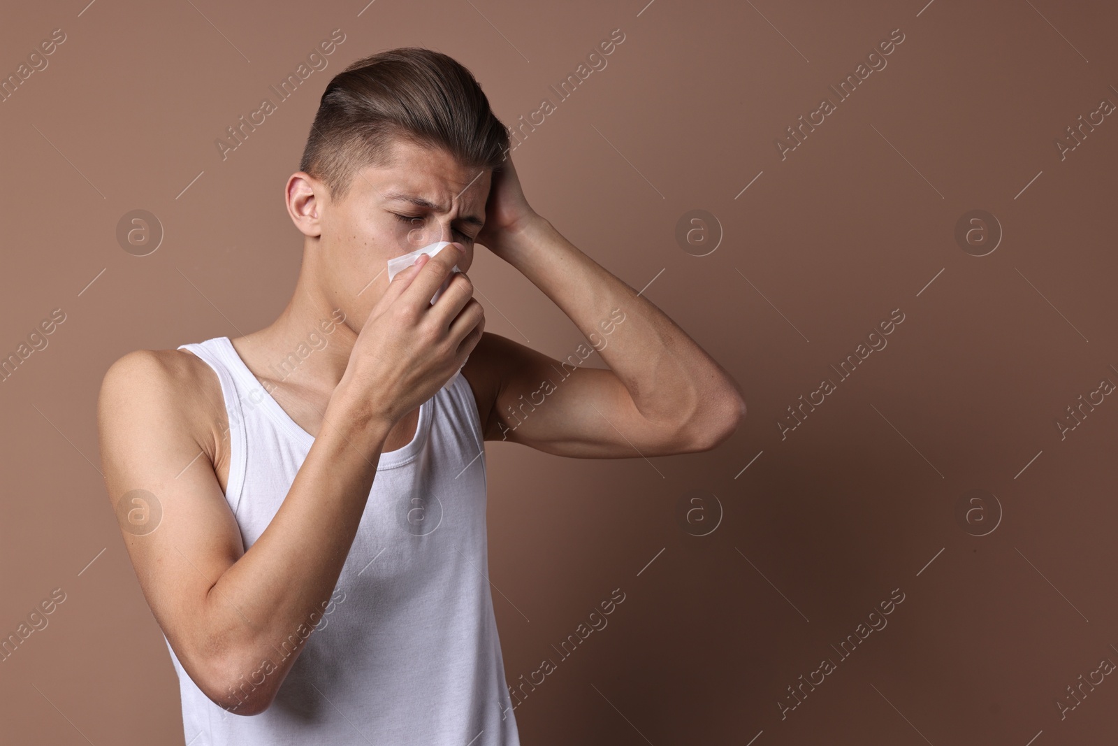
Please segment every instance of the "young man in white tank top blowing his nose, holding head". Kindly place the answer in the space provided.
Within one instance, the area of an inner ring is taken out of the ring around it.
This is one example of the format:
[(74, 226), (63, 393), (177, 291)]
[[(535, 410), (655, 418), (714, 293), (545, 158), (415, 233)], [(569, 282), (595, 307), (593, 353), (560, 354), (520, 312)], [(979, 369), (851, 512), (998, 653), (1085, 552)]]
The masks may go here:
[[(712, 448), (745, 415), (714, 360), (529, 207), (508, 150), (452, 58), (354, 63), (286, 185), (304, 248), (280, 318), (106, 372), (108, 497), (188, 743), (517, 744), (484, 441), (659, 456)], [(438, 240), (454, 244), (388, 282), (389, 258)], [(476, 244), (609, 368), (485, 332)]]

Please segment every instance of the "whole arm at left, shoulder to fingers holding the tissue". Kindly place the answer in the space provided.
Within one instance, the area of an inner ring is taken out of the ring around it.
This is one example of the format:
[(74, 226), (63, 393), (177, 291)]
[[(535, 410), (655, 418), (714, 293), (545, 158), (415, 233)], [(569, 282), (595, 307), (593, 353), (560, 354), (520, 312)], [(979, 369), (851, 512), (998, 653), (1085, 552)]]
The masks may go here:
[(116, 507), (145, 490), (162, 507), (154, 530), (122, 522), (124, 544), (179, 662), (214, 702), (238, 715), (272, 703), (341, 575), (385, 438), (476, 347), (484, 317), (466, 278), (429, 302), (458, 256), (447, 246), (389, 283), (283, 503), (247, 551), (214, 471), (225, 431), (199, 414), (224, 410), (214, 372), (189, 352), (141, 350), (105, 374), (97, 418), (108, 498)]

